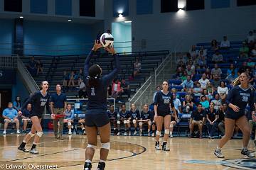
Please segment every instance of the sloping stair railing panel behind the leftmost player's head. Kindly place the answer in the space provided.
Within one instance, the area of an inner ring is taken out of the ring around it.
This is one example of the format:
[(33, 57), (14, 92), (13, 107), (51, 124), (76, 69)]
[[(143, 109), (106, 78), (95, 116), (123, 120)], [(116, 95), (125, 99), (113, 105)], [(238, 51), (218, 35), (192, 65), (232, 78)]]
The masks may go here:
[(30, 91), (30, 93), (34, 93), (39, 90), (38, 85), (36, 84), (36, 81), (33, 79), (31, 74), (28, 72), (28, 69), (26, 69), (25, 64), (21, 61), (19, 57), (17, 57), (17, 68), (18, 73), (21, 74), (21, 79), (23, 79), (23, 84), (27, 87), (27, 89)]

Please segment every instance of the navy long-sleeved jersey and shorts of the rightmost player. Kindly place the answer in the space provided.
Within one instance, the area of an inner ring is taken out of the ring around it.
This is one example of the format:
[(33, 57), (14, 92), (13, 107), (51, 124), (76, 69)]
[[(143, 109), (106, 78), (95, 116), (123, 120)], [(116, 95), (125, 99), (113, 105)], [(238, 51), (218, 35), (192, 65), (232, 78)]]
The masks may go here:
[(227, 118), (238, 119), (242, 115), (245, 115), (245, 108), (247, 104), (250, 106), (250, 111), (255, 111), (254, 94), (252, 89), (242, 89), (240, 86), (234, 86), (233, 89), (228, 92), (226, 102), (228, 105), (232, 103), (240, 108), (240, 111), (235, 112), (228, 106), (228, 110), (225, 114)]

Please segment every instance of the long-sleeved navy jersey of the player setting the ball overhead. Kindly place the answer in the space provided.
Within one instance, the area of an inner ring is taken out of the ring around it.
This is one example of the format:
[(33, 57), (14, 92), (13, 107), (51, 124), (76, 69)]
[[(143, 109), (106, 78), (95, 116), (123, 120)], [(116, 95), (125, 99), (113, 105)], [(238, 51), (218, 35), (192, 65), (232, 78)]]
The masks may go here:
[[(90, 87), (88, 84), (88, 69), (90, 64), (90, 59), (93, 55), (93, 51), (89, 53), (85, 60), (85, 68), (84, 68), (84, 79), (85, 79), (85, 86), (87, 95), (89, 98), (89, 101), (87, 103), (87, 113), (91, 113), (90, 110), (97, 110), (98, 112), (104, 112), (107, 111), (107, 86), (109, 86), (110, 82), (114, 79), (114, 77), (117, 76), (117, 73), (120, 69), (119, 59), (117, 55), (114, 55), (115, 59), (115, 69), (110, 72), (110, 74), (107, 74), (103, 77), (100, 77), (97, 79), (98, 86), (96, 87)], [(95, 113), (97, 112), (95, 111)]]

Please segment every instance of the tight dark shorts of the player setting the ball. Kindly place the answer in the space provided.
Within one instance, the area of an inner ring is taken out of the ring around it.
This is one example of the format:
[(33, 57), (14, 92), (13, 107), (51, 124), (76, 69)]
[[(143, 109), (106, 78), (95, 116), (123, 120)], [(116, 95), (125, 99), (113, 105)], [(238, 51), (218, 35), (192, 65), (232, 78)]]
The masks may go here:
[(107, 113), (90, 113), (85, 114), (85, 125), (89, 127), (102, 127), (110, 123)]

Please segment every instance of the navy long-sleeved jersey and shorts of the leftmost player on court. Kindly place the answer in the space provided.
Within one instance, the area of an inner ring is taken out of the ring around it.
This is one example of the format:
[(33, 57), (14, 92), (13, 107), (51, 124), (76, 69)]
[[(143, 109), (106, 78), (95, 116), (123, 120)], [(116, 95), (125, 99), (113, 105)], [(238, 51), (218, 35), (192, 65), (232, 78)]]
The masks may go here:
[[(24, 106), (27, 106), (28, 103), (31, 103), (32, 109), (31, 109), (31, 116), (38, 115), (41, 116), (43, 115), (45, 106), (48, 112), (50, 112), (50, 94), (46, 93), (46, 96), (43, 96), (41, 91), (37, 91), (31, 98), (29, 98), (26, 103), (23, 104)], [(24, 108), (22, 108), (23, 110)]]

